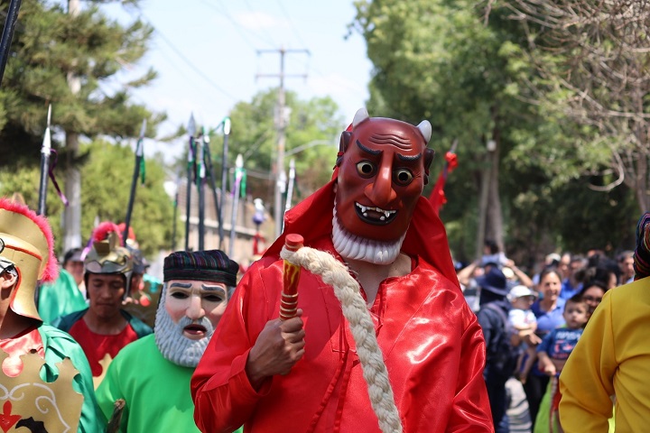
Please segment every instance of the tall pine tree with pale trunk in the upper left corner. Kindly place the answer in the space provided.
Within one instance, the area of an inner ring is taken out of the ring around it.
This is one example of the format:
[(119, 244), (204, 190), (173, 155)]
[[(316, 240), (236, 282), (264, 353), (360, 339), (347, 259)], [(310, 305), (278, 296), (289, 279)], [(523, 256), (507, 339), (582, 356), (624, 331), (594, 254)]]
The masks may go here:
[[(66, 217), (65, 230), (72, 235), (81, 229), (79, 165), (86, 155), (79, 152), (79, 137), (134, 137), (143, 118), (148, 120), (151, 136), (164, 118), (129, 99), (131, 88), (155, 77), (153, 70), (117, 90), (102, 86), (144, 56), (153, 29), (139, 20), (117, 23), (93, 3), (86, 5), (78, 10), (70, 0), (71, 10), (65, 11), (45, 0), (23, 1), (0, 88), (0, 164), (4, 170), (12, 170), (19, 160), (25, 166), (38, 165), (47, 107), (52, 104), (52, 129), (59, 133), (54, 135), (55, 146), (64, 148), (60, 157), (70, 196), (66, 214), (72, 214)], [(6, 7), (6, 2), (0, 5), (0, 12)], [(65, 134), (64, 146), (61, 133)], [(67, 242), (68, 234), (63, 239)]]

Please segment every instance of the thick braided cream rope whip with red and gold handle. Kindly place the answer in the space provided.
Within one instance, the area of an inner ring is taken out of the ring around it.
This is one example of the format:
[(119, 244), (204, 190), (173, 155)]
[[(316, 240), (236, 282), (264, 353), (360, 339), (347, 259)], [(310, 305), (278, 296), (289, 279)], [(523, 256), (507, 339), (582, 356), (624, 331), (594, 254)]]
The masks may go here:
[[(352, 278), (348, 268), (330, 253), (302, 246), (302, 236), (300, 235), (286, 236), (280, 256), (284, 261), (284, 288), (280, 304), (281, 318), (283, 310), (288, 312), (293, 309), (295, 315), (295, 310), (298, 308), (297, 286), (300, 269), (296, 271), (295, 268), (302, 266), (309, 272), (320, 275), (322, 281), (330, 284), (341, 303), (343, 316), (348, 319), (355, 345), (357, 345), (357, 355), (367, 383), (370, 402), (379, 421), (379, 428), (384, 433), (401, 433), (402, 423), (395, 406), (393, 388), (391, 388), (388, 380), (384, 355), (382, 355), (377, 344), (375, 327), (372, 318), (370, 318), (370, 313), (368, 313), (366, 301), (361, 296), (357, 280)], [(291, 279), (287, 277), (287, 268), (289, 266), (291, 266), (289, 272), (294, 275), (294, 278)], [(291, 281), (289, 286), (293, 284), (294, 287), (288, 288), (288, 281)], [(289, 290), (294, 290), (293, 293), (295, 294), (292, 298)], [(285, 293), (289, 293), (289, 295), (285, 296)], [(285, 303), (285, 299), (292, 299), (295, 304)], [(290, 317), (287, 316), (287, 318)]]

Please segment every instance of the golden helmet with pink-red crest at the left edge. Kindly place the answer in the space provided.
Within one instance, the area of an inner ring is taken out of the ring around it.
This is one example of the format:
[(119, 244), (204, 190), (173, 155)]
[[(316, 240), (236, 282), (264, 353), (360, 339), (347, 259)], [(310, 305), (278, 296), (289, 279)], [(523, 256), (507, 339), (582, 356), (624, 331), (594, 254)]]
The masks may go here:
[(20, 316), (41, 320), (34, 292), (38, 281), (54, 281), (59, 274), (54, 238), (45, 217), (8, 198), (0, 198), (0, 267), (18, 274), (9, 307)]

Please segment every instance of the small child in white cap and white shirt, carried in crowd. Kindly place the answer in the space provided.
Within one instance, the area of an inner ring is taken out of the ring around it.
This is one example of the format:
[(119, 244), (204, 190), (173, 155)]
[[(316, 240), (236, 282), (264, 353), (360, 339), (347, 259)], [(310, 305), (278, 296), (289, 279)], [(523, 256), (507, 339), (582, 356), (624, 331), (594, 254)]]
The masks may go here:
[(525, 383), (536, 359), (535, 346), (526, 345), (523, 341), (525, 336), (529, 336), (537, 330), (537, 319), (531, 309), (536, 298), (536, 291), (522, 285), (513, 287), (507, 296), (512, 304), (512, 309), (508, 313), (508, 321), (513, 329), (512, 344), (519, 351), (516, 374), (522, 383)]

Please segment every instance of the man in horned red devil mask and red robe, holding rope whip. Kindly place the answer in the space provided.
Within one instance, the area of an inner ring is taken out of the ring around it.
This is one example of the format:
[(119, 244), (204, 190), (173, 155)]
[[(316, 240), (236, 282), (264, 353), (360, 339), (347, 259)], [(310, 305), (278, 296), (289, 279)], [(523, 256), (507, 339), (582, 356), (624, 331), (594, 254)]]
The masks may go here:
[[(201, 358), (191, 386), (202, 431), (493, 431), (483, 335), (422, 197), (431, 124), (361, 109), (348, 129), (333, 179), (287, 213)], [(278, 318), (289, 234), (309, 247), (295, 256), (330, 261), (295, 260), (310, 272), (295, 317)]]

